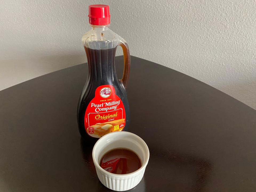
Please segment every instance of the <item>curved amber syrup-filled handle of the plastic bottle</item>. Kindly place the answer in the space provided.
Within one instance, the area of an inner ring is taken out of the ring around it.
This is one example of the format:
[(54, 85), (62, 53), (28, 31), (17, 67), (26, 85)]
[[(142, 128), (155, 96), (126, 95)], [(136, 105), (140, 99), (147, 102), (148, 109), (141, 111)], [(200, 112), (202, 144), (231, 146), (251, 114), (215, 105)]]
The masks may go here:
[(122, 47), (123, 50), (123, 77), (119, 81), (123, 84), (125, 89), (127, 88), (128, 85), (128, 80), (129, 80), (129, 74), (130, 74), (130, 51), (129, 47), (126, 42), (120, 41), (119, 44)]

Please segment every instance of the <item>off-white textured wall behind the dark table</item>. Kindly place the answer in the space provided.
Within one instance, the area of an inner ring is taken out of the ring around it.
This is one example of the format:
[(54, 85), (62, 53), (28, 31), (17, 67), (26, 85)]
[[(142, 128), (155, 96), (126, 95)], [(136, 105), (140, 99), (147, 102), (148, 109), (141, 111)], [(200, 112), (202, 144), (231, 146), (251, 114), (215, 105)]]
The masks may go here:
[[(86, 62), (88, 5), (110, 5), (110, 28), (141, 57), (256, 109), (253, 0), (0, 0), (0, 90)], [(124, 5), (123, 5), (124, 4)]]

